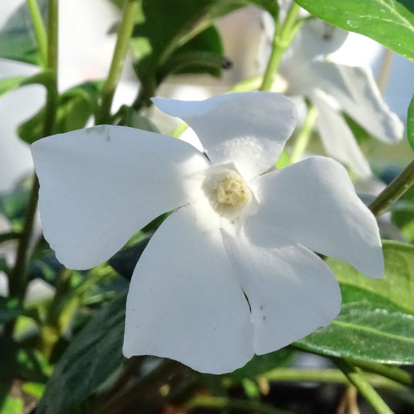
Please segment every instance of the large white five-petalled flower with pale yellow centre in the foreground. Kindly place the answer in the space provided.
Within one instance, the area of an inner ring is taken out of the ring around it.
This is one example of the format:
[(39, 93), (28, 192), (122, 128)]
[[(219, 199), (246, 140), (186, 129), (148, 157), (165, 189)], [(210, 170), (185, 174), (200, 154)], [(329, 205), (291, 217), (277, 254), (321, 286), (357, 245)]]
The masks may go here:
[(153, 100), (193, 128), (210, 161), (186, 142), (118, 126), (32, 145), (44, 235), (69, 268), (98, 265), (177, 209), (134, 271), (127, 357), (230, 372), (337, 316), (338, 283), (312, 250), (383, 274), (377, 223), (340, 164), (312, 157), (263, 174), (295, 126), (288, 98)]

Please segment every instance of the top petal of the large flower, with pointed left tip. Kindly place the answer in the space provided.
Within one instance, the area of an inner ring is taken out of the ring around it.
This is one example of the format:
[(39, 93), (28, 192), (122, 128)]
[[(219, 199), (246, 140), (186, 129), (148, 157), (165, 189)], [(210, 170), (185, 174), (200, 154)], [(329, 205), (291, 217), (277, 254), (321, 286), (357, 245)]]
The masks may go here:
[(273, 92), (241, 92), (200, 101), (153, 98), (168, 115), (184, 120), (213, 163), (234, 162), (249, 180), (279, 158), (296, 123), (293, 103)]

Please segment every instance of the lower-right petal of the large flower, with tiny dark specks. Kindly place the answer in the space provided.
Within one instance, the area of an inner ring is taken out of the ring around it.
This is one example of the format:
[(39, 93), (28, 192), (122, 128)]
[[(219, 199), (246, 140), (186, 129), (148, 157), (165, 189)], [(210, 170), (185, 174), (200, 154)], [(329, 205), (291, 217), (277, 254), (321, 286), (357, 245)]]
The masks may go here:
[(225, 232), (223, 241), (249, 299), (256, 354), (289, 345), (339, 314), (338, 282), (314, 252), (284, 237), (272, 248)]

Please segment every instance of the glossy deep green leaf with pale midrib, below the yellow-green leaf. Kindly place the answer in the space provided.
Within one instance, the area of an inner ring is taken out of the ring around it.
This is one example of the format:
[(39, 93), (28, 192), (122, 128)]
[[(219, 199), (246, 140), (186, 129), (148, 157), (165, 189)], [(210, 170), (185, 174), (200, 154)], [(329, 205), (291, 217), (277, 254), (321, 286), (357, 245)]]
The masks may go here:
[(414, 316), (357, 286), (342, 283), (341, 291), (339, 316), (296, 344), (327, 356), (414, 365)]

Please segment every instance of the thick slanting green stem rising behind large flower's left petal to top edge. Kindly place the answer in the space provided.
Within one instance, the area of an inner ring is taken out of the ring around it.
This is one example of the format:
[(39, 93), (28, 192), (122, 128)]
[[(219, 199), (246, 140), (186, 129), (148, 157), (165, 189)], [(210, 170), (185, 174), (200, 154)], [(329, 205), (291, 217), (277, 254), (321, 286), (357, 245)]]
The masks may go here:
[(96, 119), (96, 125), (109, 123), (112, 100), (117, 87), (124, 61), (128, 51), (129, 39), (134, 28), (138, 12), (138, 0), (125, 0), (124, 13), (118, 32), (117, 43), (112, 57), (108, 78), (103, 84), (101, 92), (101, 106)]

